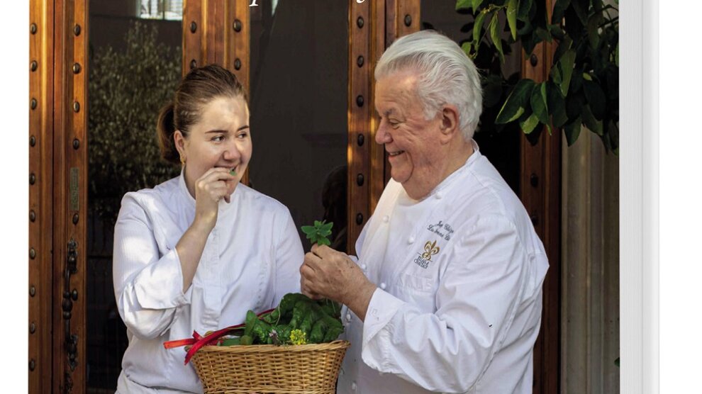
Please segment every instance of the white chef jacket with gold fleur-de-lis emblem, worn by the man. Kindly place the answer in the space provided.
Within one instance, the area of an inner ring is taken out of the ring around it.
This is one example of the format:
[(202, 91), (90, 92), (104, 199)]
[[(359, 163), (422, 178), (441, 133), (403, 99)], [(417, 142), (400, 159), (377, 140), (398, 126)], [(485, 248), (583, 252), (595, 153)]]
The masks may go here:
[(532, 393), (548, 261), (525, 208), (474, 153), (422, 201), (389, 181), (356, 243), (379, 288), (338, 393)]

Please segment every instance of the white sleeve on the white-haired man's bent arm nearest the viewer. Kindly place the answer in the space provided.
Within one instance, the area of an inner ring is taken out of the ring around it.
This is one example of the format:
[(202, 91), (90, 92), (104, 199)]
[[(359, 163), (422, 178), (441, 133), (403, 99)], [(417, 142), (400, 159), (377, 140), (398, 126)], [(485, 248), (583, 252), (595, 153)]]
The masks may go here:
[(440, 275), (435, 313), (375, 291), (363, 327), (368, 366), (452, 393), (472, 388), (489, 366), (516, 315), (529, 257), (501, 216), (478, 218), (460, 234)]

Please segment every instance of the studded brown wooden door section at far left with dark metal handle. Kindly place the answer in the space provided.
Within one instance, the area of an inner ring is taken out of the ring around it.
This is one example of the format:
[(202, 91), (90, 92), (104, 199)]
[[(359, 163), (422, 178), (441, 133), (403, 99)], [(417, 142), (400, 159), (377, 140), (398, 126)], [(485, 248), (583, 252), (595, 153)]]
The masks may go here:
[(30, 2), (29, 389), (85, 376), (87, 2)]

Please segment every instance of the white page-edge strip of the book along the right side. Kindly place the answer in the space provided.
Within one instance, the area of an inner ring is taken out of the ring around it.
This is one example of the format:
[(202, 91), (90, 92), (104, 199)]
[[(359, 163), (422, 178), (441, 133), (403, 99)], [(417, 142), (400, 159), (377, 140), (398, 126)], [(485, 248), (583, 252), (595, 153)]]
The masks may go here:
[(620, 392), (631, 394), (659, 393), (658, 9), (620, 4)]

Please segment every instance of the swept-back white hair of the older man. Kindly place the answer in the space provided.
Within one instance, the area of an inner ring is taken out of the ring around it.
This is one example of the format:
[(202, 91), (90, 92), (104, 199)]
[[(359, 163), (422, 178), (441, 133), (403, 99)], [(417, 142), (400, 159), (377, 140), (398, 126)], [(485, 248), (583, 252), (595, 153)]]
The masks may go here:
[(425, 118), (433, 118), (442, 105), (455, 105), (459, 130), (471, 140), (482, 113), (482, 89), (475, 64), (458, 44), (434, 30), (404, 35), (380, 57), (375, 79), (406, 71), (419, 76), (417, 95)]

